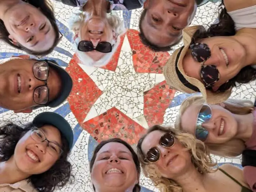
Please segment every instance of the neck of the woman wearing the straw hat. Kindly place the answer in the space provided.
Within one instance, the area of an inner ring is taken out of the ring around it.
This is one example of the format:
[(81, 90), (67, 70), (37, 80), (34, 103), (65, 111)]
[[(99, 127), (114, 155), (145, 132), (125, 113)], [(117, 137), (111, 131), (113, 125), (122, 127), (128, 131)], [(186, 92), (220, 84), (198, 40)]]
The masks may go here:
[(256, 64), (256, 29), (243, 28), (239, 30), (234, 38), (242, 44), (245, 49), (245, 62), (243, 67)]

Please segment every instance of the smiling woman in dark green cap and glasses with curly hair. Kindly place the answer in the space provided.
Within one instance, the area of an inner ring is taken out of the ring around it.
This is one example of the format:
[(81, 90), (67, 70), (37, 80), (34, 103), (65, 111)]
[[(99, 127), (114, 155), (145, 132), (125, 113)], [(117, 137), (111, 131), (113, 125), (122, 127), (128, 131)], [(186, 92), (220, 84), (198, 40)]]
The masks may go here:
[(53, 192), (71, 181), (67, 160), (73, 145), (69, 123), (43, 112), (20, 126), (0, 126), (0, 191)]

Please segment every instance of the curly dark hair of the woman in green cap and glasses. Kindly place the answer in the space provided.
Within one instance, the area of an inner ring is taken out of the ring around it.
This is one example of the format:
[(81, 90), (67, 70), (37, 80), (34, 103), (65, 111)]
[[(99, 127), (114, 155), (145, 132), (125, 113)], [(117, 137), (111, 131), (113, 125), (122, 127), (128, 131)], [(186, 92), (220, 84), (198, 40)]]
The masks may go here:
[[(24, 127), (18, 126), (12, 122), (0, 126), (0, 162), (7, 161), (14, 154), (18, 141), (30, 131), (32, 123)], [(46, 172), (38, 175), (31, 175), (28, 180), (33, 187), (42, 192), (53, 192), (56, 188), (63, 188), (68, 182), (71, 182), (71, 164), (67, 160), (69, 145), (66, 138), (61, 135), (63, 143), (63, 153), (55, 164)]]

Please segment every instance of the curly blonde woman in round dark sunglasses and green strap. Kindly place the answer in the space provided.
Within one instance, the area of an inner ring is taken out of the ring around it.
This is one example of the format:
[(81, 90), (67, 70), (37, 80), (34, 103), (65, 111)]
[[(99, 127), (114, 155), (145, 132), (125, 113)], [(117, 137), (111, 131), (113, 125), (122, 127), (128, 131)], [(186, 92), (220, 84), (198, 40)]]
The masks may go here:
[(251, 192), (242, 170), (215, 167), (207, 147), (192, 134), (156, 125), (139, 139), (137, 151), (145, 176), (161, 192)]

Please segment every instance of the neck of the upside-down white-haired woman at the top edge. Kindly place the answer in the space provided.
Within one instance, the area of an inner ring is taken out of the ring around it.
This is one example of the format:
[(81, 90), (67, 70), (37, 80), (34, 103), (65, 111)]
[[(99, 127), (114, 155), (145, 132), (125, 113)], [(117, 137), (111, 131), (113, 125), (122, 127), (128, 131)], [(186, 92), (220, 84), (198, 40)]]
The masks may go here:
[(106, 0), (88, 0), (83, 7), (83, 11), (99, 17), (106, 17), (109, 2)]

